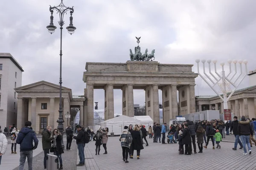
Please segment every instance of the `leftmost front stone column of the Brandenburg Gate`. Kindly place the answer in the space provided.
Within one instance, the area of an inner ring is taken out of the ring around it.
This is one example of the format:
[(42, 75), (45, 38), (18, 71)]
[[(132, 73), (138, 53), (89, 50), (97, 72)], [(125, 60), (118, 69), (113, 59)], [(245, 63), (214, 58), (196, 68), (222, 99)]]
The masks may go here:
[(87, 84), (87, 126), (93, 126), (93, 84)]

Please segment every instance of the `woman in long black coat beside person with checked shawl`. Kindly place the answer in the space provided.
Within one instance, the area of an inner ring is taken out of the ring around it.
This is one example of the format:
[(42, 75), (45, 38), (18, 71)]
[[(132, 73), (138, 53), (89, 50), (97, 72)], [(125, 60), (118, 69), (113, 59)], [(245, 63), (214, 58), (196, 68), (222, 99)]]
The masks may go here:
[(131, 159), (133, 159), (134, 150), (137, 150), (137, 159), (140, 159), (140, 150), (144, 149), (142, 138), (140, 136), (140, 128), (138, 126), (134, 126), (134, 130), (131, 131)]

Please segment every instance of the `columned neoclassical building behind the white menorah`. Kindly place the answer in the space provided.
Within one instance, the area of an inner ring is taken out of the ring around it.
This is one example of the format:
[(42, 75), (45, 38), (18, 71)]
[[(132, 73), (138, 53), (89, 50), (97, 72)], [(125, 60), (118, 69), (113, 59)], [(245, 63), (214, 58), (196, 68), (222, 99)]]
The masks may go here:
[[(218, 96), (195, 96), (196, 110), (219, 110), (223, 113), (223, 101)], [(235, 91), (228, 101), (228, 108), (239, 119), (241, 116), (256, 118), (256, 85)]]

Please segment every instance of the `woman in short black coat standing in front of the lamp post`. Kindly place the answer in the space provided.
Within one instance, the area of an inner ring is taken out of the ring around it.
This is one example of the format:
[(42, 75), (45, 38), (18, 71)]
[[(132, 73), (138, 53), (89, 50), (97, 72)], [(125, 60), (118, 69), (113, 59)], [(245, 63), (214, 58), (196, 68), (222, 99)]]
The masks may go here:
[[(53, 144), (53, 150), (54, 150), (54, 155), (58, 156), (58, 160), (60, 161), (60, 168), (59, 170), (63, 170), (62, 167), (62, 158), (61, 154), (64, 153), (64, 150), (61, 145), (61, 134), (59, 133), (58, 129), (54, 129), (52, 132), (52, 136), (54, 137), (52, 144)], [(59, 167), (59, 164), (58, 164)]]

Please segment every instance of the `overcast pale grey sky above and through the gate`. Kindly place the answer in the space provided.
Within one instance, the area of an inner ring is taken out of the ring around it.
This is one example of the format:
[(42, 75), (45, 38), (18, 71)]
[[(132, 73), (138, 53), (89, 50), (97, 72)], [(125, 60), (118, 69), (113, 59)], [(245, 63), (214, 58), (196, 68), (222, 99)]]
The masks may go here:
[[(2, 0), (0, 52), (8, 52), (23, 67), (22, 85), (45, 80), (59, 82), (60, 30), (49, 34), (49, 5), (61, 0)], [(83, 95), (86, 62), (126, 62), (129, 49), (140, 36), (142, 51), (155, 49), (156, 61), (196, 64), (195, 59), (247, 59), (256, 69), (255, 0), (64, 0), (74, 6), (72, 36), (63, 30), (63, 86)], [(65, 15), (69, 25), (70, 15)], [(58, 25), (54, 13), (54, 24)], [(227, 68), (228, 70), (228, 68)], [(197, 72), (195, 66), (193, 71)], [(195, 94), (215, 95), (196, 78)], [(248, 77), (239, 88), (249, 86)], [(198, 92), (197, 89), (200, 89)], [(160, 103), (162, 101), (161, 91)], [(144, 105), (143, 90), (134, 90), (134, 104)], [(94, 91), (94, 101), (104, 108), (104, 91)], [(114, 90), (114, 112), (122, 113), (122, 92)]]

